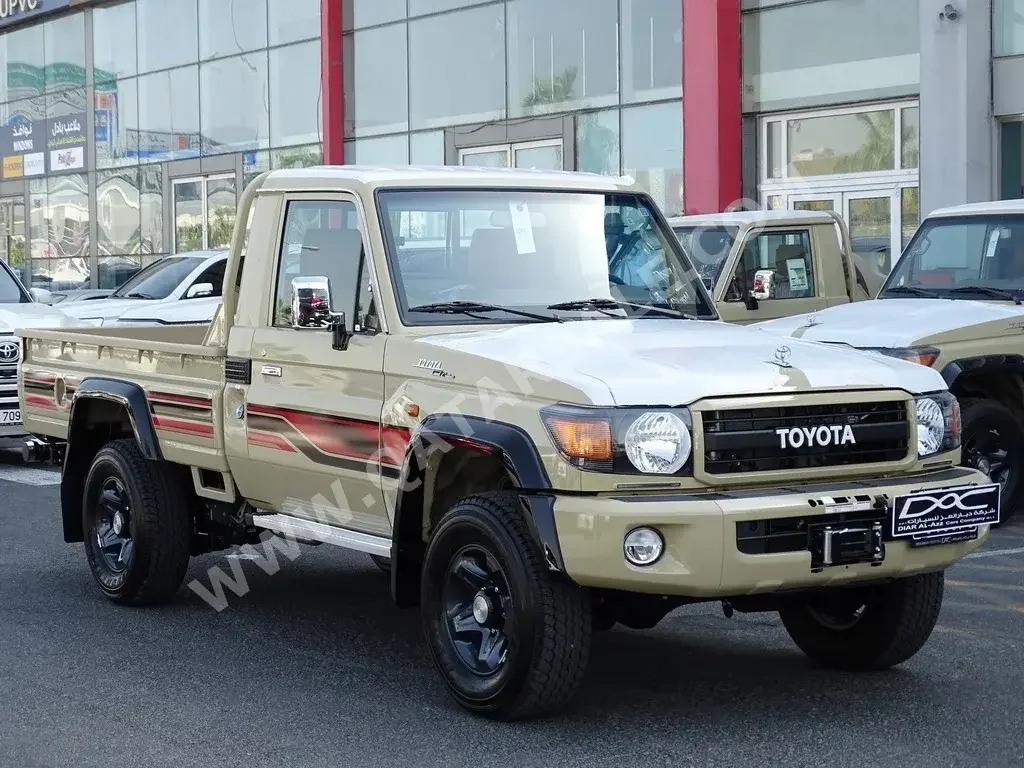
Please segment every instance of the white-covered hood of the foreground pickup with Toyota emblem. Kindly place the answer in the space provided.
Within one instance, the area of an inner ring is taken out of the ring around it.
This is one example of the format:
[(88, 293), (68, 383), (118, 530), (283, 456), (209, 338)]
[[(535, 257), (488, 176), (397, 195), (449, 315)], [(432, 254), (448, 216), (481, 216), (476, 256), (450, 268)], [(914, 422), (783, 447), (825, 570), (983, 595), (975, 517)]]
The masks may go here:
[[(427, 336), (423, 357), (458, 351), (558, 379), (597, 406), (678, 406), (707, 397), (835, 389), (945, 389), (935, 371), (868, 352), (718, 322), (601, 319)], [(788, 353), (780, 351), (787, 347)], [(776, 352), (788, 368), (776, 365)], [(467, 366), (472, 369), (473, 366)]]

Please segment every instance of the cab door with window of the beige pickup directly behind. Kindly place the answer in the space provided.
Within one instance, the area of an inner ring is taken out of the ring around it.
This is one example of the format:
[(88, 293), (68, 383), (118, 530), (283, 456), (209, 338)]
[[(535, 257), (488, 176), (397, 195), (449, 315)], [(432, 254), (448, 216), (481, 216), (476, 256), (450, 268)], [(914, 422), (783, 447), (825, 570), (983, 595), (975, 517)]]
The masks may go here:
[(723, 319), (745, 325), (827, 306), (809, 229), (766, 229), (740, 244), (718, 303)]

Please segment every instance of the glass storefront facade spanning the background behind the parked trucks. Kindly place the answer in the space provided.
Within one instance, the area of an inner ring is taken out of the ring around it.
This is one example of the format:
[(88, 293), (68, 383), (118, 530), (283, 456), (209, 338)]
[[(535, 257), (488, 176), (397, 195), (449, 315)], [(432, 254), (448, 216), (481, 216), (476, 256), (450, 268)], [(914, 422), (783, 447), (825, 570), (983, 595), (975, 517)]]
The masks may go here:
[[(764, 207), (837, 210), (891, 264), (921, 215), (931, 1), (707, 0), (741, 33), (725, 80), (739, 79), (742, 188), (722, 183)], [(991, 3), (996, 68), (1024, 62), (1024, 0)], [(0, 258), (38, 287), (114, 287), (224, 245), (247, 181), (322, 162), (326, 138), (335, 162), (629, 174), (682, 213), (684, 156), (715, 137), (695, 119), (684, 142), (684, 112), (703, 109), (684, 103), (687, 30), (705, 34), (688, 5), (50, 0), (54, 12), (0, 29)], [(1024, 105), (997, 115), (993, 194), (1021, 197)], [(685, 165), (699, 187), (701, 164)]]

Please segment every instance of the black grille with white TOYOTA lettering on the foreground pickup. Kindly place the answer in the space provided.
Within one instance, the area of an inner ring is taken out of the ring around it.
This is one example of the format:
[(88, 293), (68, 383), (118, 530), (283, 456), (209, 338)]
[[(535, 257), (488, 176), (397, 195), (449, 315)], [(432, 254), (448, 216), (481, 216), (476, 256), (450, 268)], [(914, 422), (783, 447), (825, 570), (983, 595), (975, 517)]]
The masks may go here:
[(706, 411), (702, 420), (709, 474), (896, 462), (910, 436), (901, 400)]

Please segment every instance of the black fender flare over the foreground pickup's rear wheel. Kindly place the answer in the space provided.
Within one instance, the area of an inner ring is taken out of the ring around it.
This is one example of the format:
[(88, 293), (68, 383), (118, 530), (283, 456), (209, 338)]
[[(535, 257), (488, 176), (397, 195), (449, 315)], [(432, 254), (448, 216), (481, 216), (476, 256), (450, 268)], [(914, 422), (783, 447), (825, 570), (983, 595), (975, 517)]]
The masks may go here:
[(145, 458), (152, 461), (163, 459), (157, 430), (153, 426), (150, 403), (142, 387), (120, 379), (89, 377), (83, 380), (72, 397), (71, 415), (68, 419), (68, 449), (60, 471), (60, 516), (65, 542), (69, 544), (81, 542), (84, 536), (82, 495), (85, 493), (85, 476), (99, 447), (89, 442), (82, 444), (81, 440), (86, 434), (88, 411), (82, 404), (88, 400), (104, 400), (123, 408)]

